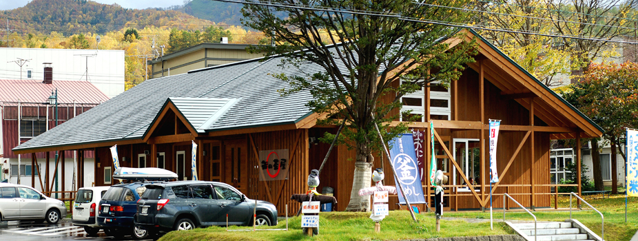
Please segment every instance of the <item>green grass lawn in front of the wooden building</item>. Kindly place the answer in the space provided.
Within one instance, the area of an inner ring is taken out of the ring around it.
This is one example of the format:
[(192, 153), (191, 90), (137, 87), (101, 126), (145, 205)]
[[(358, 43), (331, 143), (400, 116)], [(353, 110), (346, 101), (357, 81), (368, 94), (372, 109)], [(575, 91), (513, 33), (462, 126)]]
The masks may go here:
[[(587, 200), (599, 209), (605, 217), (606, 240), (630, 240), (638, 230), (638, 198), (630, 198), (628, 205), (628, 222), (625, 222), (624, 196)], [(559, 207), (568, 207), (567, 197), (559, 198)], [(536, 211), (538, 220), (562, 221), (569, 218), (569, 211)], [(374, 224), (369, 219), (370, 213), (331, 212), (320, 214), (319, 235), (308, 237), (302, 234), (301, 218), (289, 219), (289, 231), (240, 231), (248, 227), (209, 227), (192, 231), (173, 231), (161, 238), (165, 240), (406, 240), (415, 238), (439, 238), (455, 236), (482, 236), (513, 234), (513, 231), (502, 222), (502, 210), (493, 211), (494, 229), (490, 222), (466, 222), (464, 218), (473, 220), (489, 220), (489, 212), (463, 211), (446, 212), (441, 220), (441, 231), (435, 229), (433, 213), (417, 214), (419, 222), (413, 222), (408, 211), (391, 211), (390, 216), (381, 222), (381, 232), (374, 232)], [(600, 235), (601, 219), (598, 213), (591, 210), (573, 211), (572, 217), (579, 220)], [(449, 218), (453, 218), (450, 220)], [(458, 218), (458, 219), (456, 219)], [(508, 212), (507, 220), (533, 220), (528, 213)], [(285, 221), (280, 221), (271, 229), (285, 229)], [(234, 231), (232, 231), (234, 230)]]

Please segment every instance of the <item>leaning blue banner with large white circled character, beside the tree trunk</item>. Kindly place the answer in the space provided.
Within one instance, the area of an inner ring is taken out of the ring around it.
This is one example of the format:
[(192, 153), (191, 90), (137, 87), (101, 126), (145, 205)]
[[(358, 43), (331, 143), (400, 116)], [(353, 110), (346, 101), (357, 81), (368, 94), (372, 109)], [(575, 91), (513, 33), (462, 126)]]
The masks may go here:
[[(414, 151), (414, 138), (412, 134), (402, 134), (390, 141), (390, 157), (392, 158), (393, 171), (396, 174), (394, 181), (401, 183), (405, 197), (410, 204), (425, 203), (423, 186), (416, 154)], [(405, 204), (401, 189), (397, 188), (399, 202)]]

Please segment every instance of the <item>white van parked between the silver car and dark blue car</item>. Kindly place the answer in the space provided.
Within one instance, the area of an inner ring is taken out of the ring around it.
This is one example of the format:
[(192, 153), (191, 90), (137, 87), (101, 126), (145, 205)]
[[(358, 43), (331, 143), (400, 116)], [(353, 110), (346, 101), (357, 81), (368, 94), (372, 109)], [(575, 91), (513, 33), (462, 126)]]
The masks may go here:
[(96, 222), (98, 205), (109, 188), (110, 186), (82, 187), (78, 190), (71, 218), (73, 225), (84, 227), (89, 235), (96, 235), (100, 231)]

